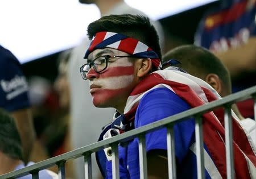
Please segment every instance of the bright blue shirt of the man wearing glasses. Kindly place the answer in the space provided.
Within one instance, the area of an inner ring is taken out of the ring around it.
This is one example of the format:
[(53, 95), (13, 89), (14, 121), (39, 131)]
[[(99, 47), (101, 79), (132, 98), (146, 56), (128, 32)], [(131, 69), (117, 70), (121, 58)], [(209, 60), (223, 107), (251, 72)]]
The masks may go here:
[[(158, 88), (151, 90), (139, 102), (137, 113), (135, 114), (135, 128), (181, 113), (190, 108), (187, 102), (169, 89)], [(190, 149), (195, 144), (195, 120), (188, 119), (175, 124), (174, 132), (177, 178), (188, 178), (188, 176), (189, 178), (197, 178), (196, 155)], [(146, 151), (154, 149), (166, 150), (166, 136), (166, 128), (146, 134)], [(135, 138), (130, 141), (127, 147), (119, 146), (120, 178), (139, 178), (138, 143), (138, 138)], [(104, 152), (101, 154), (98, 155), (102, 159), (100, 168), (106, 167), (106, 170), (102, 169), (102, 172), (106, 172), (106, 178), (112, 178), (112, 162), (104, 158)], [(210, 178), (208, 172), (206, 172), (205, 177)]]

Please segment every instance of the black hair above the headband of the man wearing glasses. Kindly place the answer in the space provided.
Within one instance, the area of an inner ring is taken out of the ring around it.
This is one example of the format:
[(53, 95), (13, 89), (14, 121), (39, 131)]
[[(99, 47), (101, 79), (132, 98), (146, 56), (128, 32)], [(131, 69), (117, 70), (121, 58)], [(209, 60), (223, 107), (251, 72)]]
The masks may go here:
[(137, 39), (152, 48), (162, 59), (159, 37), (150, 19), (143, 15), (108, 15), (89, 24), (87, 32), (92, 39), (97, 32), (115, 32)]

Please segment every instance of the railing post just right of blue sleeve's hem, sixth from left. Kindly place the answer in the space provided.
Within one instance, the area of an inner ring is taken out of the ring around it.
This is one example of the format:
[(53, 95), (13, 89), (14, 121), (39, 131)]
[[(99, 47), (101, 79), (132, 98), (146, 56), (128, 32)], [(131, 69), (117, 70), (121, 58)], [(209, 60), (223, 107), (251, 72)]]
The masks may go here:
[(168, 176), (176, 179), (174, 126), (167, 126)]

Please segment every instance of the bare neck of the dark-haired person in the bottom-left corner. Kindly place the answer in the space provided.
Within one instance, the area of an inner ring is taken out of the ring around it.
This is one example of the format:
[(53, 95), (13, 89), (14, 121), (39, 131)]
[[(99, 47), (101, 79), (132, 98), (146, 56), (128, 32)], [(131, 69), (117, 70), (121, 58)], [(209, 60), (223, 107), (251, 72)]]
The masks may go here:
[(15, 167), (23, 162), (19, 159), (11, 159), (11, 157), (0, 153), (0, 175), (12, 172)]

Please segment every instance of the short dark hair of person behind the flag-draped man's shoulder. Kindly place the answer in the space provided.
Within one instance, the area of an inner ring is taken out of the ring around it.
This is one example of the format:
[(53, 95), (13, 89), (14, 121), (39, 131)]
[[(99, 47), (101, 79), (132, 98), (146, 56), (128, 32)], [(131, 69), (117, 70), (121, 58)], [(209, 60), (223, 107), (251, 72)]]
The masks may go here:
[(163, 63), (170, 59), (180, 61), (180, 64), (172, 66), (178, 66), (201, 79), (205, 79), (209, 73), (217, 74), (225, 85), (225, 89), (231, 93), (232, 87), (228, 69), (208, 49), (196, 45), (181, 45), (168, 51), (163, 56)]

